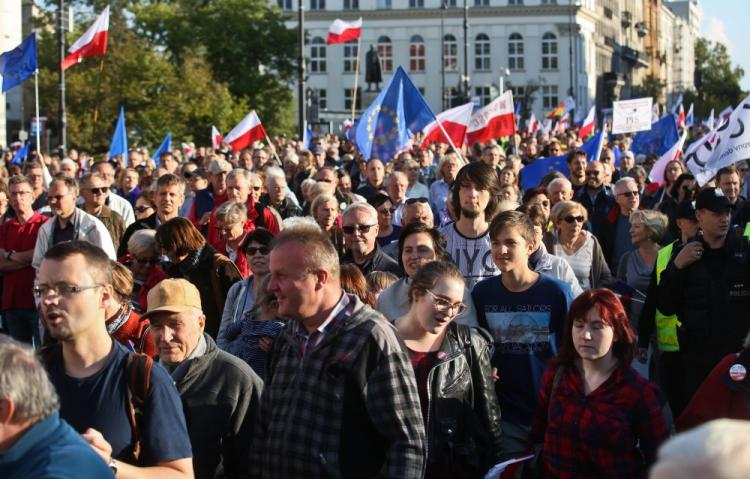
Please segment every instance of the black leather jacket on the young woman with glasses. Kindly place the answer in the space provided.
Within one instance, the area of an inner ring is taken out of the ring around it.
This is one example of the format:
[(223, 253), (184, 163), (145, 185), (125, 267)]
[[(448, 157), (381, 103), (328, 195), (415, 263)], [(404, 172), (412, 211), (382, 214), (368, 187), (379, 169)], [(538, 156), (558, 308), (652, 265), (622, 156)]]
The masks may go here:
[[(451, 323), (427, 376), (430, 462), (459, 461), (484, 472), (500, 456), (500, 406), (492, 380), (492, 338)], [(480, 476), (480, 477), (481, 477)]]

